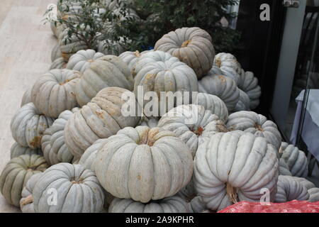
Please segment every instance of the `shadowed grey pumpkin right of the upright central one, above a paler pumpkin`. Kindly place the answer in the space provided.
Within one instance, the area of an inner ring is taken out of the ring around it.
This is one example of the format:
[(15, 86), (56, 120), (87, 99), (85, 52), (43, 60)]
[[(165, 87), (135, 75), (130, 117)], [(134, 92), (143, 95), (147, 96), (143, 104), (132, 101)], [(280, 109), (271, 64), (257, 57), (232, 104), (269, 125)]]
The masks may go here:
[(240, 90), (233, 79), (223, 75), (207, 75), (198, 82), (198, 91), (218, 96), (228, 111), (233, 111), (240, 100)]

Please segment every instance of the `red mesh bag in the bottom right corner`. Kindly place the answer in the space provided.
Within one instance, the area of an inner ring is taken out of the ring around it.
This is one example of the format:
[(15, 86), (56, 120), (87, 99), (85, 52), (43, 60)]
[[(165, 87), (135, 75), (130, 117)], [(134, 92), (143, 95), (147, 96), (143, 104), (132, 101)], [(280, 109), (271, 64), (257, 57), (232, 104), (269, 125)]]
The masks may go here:
[(281, 204), (240, 201), (218, 213), (319, 213), (319, 201), (294, 200)]

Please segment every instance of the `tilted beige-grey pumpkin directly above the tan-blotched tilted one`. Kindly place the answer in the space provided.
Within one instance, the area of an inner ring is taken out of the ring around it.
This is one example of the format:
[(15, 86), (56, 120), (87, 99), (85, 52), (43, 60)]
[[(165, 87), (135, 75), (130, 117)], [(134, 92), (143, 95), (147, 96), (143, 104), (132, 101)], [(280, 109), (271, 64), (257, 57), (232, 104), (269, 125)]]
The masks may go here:
[(91, 101), (101, 89), (122, 87), (133, 90), (133, 77), (128, 66), (114, 55), (106, 55), (91, 62), (76, 86), (75, 94), (80, 106)]

